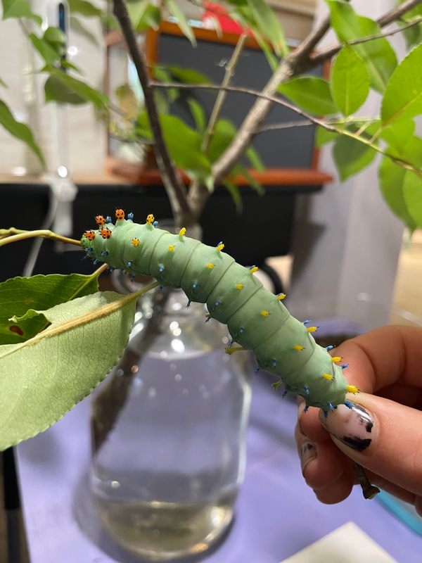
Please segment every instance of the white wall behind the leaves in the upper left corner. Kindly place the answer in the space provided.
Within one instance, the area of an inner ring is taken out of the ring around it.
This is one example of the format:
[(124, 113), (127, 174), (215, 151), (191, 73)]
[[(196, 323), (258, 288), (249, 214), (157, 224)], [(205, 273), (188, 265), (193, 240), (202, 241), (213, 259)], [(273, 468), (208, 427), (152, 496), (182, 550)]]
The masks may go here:
[[(34, 0), (34, 13), (44, 15), (46, 2)], [(106, 51), (97, 20), (84, 18), (84, 25), (94, 34), (98, 46), (79, 34), (70, 33), (69, 46), (77, 49), (70, 60), (84, 72), (89, 84), (103, 87)], [(57, 141), (53, 134), (53, 105), (43, 107), (45, 75), (35, 75), (41, 60), (32, 58), (27, 39), (15, 20), (0, 20), (0, 77), (9, 88), (0, 87), (0, 97), (15, 112), (15, 117), (30, 122), (37, 141), (44, 150), (49, 165), (54, 163)], [(89, 105), (68, 108), (68, 141), (72, 172), (95, 174), (104, 170), (106, 132), (96, 120)], [(39, 165), (23, 143), (15, 141), (0, 127), (0, 174), (12, 172), (15, 167), (25, 167), (27, 172), (37, 172)]]

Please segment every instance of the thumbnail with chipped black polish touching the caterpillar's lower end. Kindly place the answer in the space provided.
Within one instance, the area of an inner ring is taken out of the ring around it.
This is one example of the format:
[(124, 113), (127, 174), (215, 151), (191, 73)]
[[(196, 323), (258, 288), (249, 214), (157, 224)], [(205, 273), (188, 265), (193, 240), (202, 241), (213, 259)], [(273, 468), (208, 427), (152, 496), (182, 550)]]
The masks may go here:
[(348, 401), (338, 405), (324, 417), (319, 414), (321, 423), (330, 434), (353, 450), (363, 452), (373, 440), (373, 416), (362, 405)]

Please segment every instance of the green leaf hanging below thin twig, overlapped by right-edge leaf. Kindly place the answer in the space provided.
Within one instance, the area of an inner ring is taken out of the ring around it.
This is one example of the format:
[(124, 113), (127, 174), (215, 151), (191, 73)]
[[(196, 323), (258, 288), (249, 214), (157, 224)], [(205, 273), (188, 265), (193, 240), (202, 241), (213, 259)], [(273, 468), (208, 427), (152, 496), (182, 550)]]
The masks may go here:
[(392, 213), (395, 213), (413, 232), (416, 229), (416, 223), (409, 214), (406, 201), (404, 201), (403, 182), (405, 172), (406, 170), (402, 166), (393, 163), (387, 156), (383, 156), (378, 168), (378, 177), (381, 193)]

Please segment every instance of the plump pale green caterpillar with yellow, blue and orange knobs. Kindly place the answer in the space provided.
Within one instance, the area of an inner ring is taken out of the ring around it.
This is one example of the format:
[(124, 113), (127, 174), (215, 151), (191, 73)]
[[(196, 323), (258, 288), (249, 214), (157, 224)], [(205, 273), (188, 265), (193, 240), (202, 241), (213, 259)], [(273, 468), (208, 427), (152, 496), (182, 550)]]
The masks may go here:
[(254, 276), (257, 268), (244, 267), (223, 252), (224, 244), (207, 246), (186, 236), (186, 229), (171, 234), (157, 228), (153, 215), (145, 224), (124, 218), (117, 209), (116, 222), (96, 217), (98, 229), (82, 236), (87, 255), (130, 275), (150, 275), (162, 286), (181, 287), (189, 302), (206, 303), (210, 317), (227, 325), (231, 338), (253, 350), (262, 368), (280, 377), (286, 391), (297, 393), (306, 405), (324, 412), (346, 404), (343, 368), (312, 337), (315, 327), (296, 320)]

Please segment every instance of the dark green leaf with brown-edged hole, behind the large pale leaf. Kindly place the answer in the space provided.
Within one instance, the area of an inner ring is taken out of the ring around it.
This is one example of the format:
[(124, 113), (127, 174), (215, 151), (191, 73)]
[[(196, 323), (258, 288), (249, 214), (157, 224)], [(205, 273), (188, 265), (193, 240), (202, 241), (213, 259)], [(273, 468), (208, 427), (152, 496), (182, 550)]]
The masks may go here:
[(0, 345), (31, 339), (46, 327), (44, 315), (30, 322), (11, 322), (22, 317), (28, 308), (49, 309), (58, 303), (71, 301), (98, 291), (98, 281), (81, 274), (15, 277), (0, 284)]

